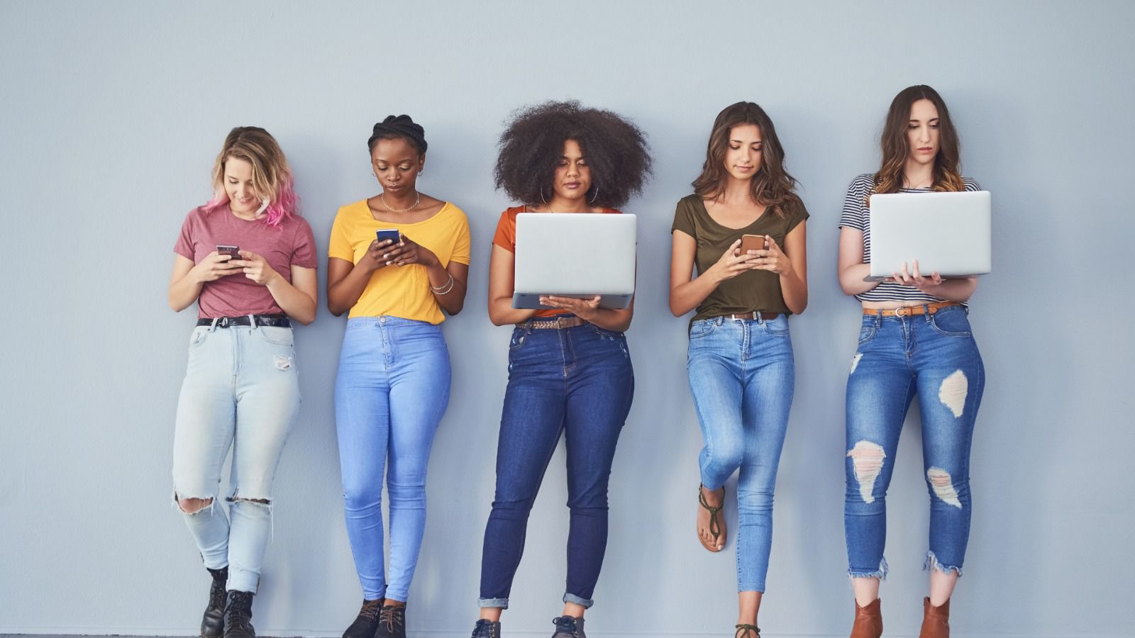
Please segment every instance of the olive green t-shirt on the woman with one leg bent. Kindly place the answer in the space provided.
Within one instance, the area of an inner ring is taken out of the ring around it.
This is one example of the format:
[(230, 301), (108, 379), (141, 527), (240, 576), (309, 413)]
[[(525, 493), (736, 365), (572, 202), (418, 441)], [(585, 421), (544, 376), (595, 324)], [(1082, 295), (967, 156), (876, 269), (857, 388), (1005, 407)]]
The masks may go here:
[[(783, 249), (785, 235), (808, 218), (808, 211), (798, 198), (785, 202), (781, 209), (784, 211), (783, 216), (770, 208), (745, 228), (728, 228), (709, 217), (699, 195), (688, 195), (678, 200), (674, 225), (670, 232), (681, 230), (698, 243), (693, 263), (700, 275), (716, 263), (741, 235), (768, 235)], [(697, 314), (690, 321), (754, 311), (791, 313), (781, 294), (780, 276), (775, 272), (746, 270), (732, 279), (725, 279), (698, 305)]]

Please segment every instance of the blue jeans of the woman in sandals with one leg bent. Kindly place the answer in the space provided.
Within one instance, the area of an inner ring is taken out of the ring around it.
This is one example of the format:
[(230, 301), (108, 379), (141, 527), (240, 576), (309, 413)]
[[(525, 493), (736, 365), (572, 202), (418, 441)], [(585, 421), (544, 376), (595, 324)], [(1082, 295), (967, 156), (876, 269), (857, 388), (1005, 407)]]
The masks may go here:
[(764, 591), (773, 543), (773, 490), (796, 363), (788, 318), (700, 319), (690, 326), (687, 369), (705, 447), (701, 484), (737, 482), (738, 591)]

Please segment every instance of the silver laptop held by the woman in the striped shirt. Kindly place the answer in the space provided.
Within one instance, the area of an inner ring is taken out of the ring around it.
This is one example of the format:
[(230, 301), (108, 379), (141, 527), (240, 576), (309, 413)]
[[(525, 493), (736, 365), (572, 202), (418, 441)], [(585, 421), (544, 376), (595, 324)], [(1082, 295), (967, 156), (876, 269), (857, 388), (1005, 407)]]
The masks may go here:
[(989, 191), (871, 196), (871, 275), (878, 282), (918, 260), (924, 276), (970, 277), (992, 270)]

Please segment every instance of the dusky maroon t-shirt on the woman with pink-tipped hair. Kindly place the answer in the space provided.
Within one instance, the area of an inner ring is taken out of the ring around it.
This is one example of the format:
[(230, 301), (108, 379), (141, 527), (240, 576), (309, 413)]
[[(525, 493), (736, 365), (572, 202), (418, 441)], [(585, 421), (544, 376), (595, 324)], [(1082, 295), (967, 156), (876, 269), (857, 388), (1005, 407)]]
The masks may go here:
[[(241, 219), (227, 205), (212, 212), (195, 208), (185, 216), (174, 252), (199, 263), (218, 245), (237, 246), (263, 257), (288, 283), (292, 283), (292, 266), (316, 267), (316, 240), (311, 226), (297, 215), (269, 226), (263, 220)], [(197, 296), (197, 317), (283, 313), (268, 286), (249, 279), (244, 272), (207, 282)]]

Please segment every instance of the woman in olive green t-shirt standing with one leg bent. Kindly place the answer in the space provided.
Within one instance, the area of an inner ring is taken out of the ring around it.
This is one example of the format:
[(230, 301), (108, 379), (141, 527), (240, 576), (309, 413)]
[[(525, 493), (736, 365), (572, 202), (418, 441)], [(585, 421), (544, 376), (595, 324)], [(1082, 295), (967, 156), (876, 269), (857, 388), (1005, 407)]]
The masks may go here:
[(808, 303), (808, 211), (792, 192), (796, 179), (783, 159), (759, 106), (725, 108), (714, 121), (693, 194), (679, 200), (672, 228), (670, 310), (680, 317), (697, 309), (688, 370), (705, 439), (698, 540), (711, 552), (725, 546), (724, 485), (740, 469), (737, 638), (759, 638), (773, 488), (796, 375), (788, 316)]

